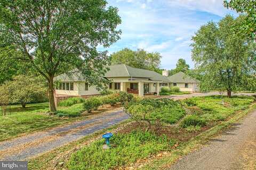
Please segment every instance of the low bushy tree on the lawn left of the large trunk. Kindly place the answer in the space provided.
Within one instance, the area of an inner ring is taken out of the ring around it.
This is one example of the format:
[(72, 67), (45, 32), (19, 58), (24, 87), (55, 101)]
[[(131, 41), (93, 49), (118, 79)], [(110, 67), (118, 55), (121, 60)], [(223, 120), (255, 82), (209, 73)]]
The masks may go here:
[(39, 77), (18, 75), (13, 78), (13, 81), (6, 82), (4, 86), (8, 88), (11, 103), (19, 103), (22, 108), (36, 100), (37, 96), (43, 97), (46, 94), (46, 84)]

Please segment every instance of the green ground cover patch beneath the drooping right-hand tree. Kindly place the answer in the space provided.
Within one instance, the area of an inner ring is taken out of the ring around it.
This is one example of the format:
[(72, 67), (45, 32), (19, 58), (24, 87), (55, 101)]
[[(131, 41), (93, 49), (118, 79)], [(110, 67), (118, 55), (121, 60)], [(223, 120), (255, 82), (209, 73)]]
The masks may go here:
[(209, 125), (219, 121), (225, 121), (229, 116), (239, 110), (248, 108), (253, 97), (234, 96), (228, 98), (225, 96), (206, 96), (186, 99), (183, 102), (187, 105), (190, 115), (187, 115), (180, 123), (182, 128), (191, 128), (191, 126)]

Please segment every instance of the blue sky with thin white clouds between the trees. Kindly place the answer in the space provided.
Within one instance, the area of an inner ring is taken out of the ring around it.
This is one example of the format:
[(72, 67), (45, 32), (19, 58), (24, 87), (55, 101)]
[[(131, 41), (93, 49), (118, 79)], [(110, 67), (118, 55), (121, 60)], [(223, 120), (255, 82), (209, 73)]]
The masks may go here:
[(125, 47), (159, 52), (161, 68), (173, 69), (179, 58), (194, 67), (191, 37), (201, 25), (219, 21), (234, 11), (223, 7), (223, 0), (107, 0), (118, 7), (122, 23), (121, 39), (107, 48), (109, 54)]

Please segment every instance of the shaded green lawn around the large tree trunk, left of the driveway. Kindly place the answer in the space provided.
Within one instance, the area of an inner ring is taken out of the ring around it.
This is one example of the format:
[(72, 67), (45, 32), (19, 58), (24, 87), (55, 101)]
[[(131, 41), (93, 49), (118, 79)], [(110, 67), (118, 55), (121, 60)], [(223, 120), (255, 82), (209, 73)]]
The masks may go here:
[[(0, 141), (84, 118), (84, 116), (63, 118), (47, 115), (45, 112), (49, 110), (48, 103), (28, 104), (26, 108), (13, 105), (11, 109), (11, 114), (0, 116)], [(82, 104), (76, 104), (70, 107), (58, 107), (58, 111), (76, 115), (83, 111), (83, 107)]]

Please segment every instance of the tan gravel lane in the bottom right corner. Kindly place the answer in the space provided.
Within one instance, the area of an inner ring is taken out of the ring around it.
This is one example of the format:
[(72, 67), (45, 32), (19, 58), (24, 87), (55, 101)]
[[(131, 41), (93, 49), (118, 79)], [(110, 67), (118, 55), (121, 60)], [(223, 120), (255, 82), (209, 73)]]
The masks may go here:
[(256, 169), (256, 111), (229, 131), (181, 158), (170, 169)]

